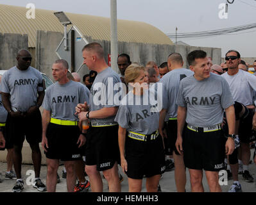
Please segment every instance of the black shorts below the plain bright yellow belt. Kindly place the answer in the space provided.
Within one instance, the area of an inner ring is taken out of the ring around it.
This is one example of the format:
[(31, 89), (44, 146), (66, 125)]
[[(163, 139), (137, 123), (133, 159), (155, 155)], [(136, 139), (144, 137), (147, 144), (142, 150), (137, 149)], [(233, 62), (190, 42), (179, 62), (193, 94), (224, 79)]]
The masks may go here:
[(62, 161), (81, 160), (82, 148), (78, 148), (78, 126), (63, 126), (49, 123), (46, 131), (48, 149), (46, 158)]

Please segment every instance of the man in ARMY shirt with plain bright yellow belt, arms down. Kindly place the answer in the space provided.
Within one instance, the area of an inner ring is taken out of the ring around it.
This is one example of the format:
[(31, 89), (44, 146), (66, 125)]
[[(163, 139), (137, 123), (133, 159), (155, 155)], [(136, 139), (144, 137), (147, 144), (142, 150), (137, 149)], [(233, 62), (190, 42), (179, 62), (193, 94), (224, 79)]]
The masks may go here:
[(89, 101), (89, 90), (81, 83), (67, 78), (68, 68), (65, 60), (53, 63), (53, 78), (57, 82), (46, 89), (42, 104), (42, 147), (47, 158), (47, 192), (56, 191), (59, 160), (64, 161), (67, 170), (67, 191), (74, 192), (74, 166), (77, 160), (81, 160), (83, 151), (80, 147), (86, 141), (74, 112), (78, 103)]

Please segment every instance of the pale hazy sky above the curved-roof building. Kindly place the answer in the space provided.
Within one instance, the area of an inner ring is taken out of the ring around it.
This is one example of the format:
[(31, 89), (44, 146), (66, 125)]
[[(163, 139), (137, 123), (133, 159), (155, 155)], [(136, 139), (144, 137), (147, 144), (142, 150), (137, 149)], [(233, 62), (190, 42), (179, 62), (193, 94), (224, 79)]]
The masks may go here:
[[(229, 0), (232, 1), (232, 0)], [(228, 6), (228, 19), (219, 19), (219, 4), (226, 0), (117, 0), (117, 18), (147, 22), (164, 33), (209, 31), (256, 22), (256, 1), (235, 0)], [(1, 4), (110, 17), (110, 0), (1, 0)], [(242, 57), (256, 59), (256, 29), (183, 42), (203, 47), (221, 47), (222, 56), (236, 49)]]

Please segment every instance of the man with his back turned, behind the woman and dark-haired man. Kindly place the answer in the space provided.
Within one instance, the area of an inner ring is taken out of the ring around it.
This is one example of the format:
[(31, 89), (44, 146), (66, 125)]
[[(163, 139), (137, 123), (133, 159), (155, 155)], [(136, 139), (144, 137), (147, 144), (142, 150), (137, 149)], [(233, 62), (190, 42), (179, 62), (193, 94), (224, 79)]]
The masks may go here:
[[(166, 90), (168, 106), (160, 112), (159, 130), (160, 135), (167, 138), (169, 141), (169, 149), (175, 159), (175, 183), (177, 192), (185, 192), (186, 174), (185, 165), (183, 163), (183, 154), (179, 154), (176, 150), (175, 143), (177, 139), (177, 110), (176, 98), (180, 86), (180, 81), (192, 76), (193, 72), (189, 69), (183, 69), (183, 59), (179, 53), (172, 53), (167, 61), (168, 69), (171, 70), (162, 77), (160, 83), (163, 83)], [(167, 136), (164, 128), (164, 121), (167, 122)]]

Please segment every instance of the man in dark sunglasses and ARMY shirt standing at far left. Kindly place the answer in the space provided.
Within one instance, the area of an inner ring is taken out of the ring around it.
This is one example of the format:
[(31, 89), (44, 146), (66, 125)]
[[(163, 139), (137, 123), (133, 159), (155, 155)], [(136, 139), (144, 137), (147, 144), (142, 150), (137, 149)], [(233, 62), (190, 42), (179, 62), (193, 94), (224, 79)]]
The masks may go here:
[(22, 146), (26, 140), (32, 150), (35, 168), (33, 187), (46, 191), (40, 180), (41, 152), (39, 143), (42, 140), (42, 117), (39, 107), (44, 99), (42, 75), (30, 66), (31, 54), (21, 49), (17, 54), (17, 66), (4, 72), (1, 81), (2, 101), (8, 111), (6, 119), (6, 143), (13, 145), (13, 165), (17, 174), (17, 182), (12, 192), (21, 192), (24, 182), (21, 178)]

